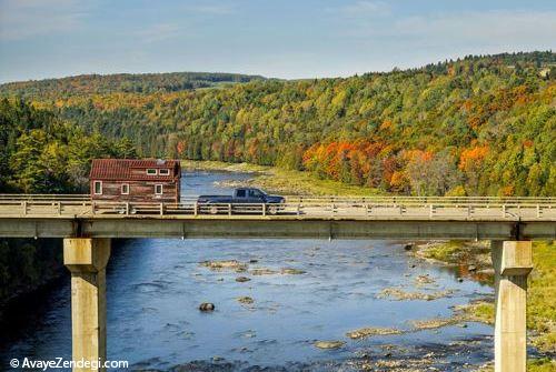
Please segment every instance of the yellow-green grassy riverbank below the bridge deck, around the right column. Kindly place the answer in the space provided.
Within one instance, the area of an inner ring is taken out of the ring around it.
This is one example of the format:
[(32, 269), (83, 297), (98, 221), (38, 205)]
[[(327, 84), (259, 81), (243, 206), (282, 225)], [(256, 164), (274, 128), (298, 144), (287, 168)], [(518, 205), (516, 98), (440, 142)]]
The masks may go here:
[[(492, 285), (494, 271), (488, 242), (426, 242), (415, 244), (413, 254), (457, 270), (459, 278)], [(556, 243), (533, 243), (534, 270), (527, 293), (527, 329), (529, 342), (544, 356), (529, 360), (528, 371), (545, 372), (556, 368)], [(494, 324), (494, 299), (471, 302), (458, 309), (469, 320)], [(483, 369), (481, 372), (492, 371)]]

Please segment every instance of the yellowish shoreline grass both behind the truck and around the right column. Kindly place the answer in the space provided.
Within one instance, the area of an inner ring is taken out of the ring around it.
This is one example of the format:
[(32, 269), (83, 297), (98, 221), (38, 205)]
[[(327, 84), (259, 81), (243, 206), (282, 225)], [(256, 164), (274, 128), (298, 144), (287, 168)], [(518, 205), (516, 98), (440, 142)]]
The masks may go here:
[[(242, 183), (227, 183), (229, 187), (251, 185), (269, 192), (286, 194), (335, 194), (377, 195), (376, 190), (346, 185), (341, 182), (319, 180), (307, 172), (285, 171), (272, 167), (249, 163), (226, 163), (219, 161), (182, 160), (182, 168), (189, 171), (247, 172), (255, 177)], [(494, 284), (490, 245), (488, 241), (427, 241), (415, 242), (409, 251), (415, 257), (435, 264), (455, 269), (461, 280), (470, 279), (486, 285)], [(527, 370), (548, 372), (556, 366), (556, 243), (534, 242), (534, 270), (528, 281), (527, 328), (529, 342), (546, 358), (532, 359)], [(494, 298), (463, 304), (454, 309), (453, 319), (441, 320), (438, 326), (458, 322), (483, 322), (494, 324)], [(480, 369), (489, 372), (492, 366)]]

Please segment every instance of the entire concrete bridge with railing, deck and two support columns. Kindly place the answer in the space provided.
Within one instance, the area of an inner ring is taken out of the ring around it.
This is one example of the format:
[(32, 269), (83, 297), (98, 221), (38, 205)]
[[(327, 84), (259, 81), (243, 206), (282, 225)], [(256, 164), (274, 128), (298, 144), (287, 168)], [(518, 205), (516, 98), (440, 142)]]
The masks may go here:
[(490, 240), (495, 371), (525, 372), (532, 240), (556, 240), (556, 199), (294, 195), (277, 205), (199, 204), (195, 197), (139, 203), (0, 194), (0, 237), (63, 238), (63, 261), (71, 272), (72, 358), (95, 361), (106, 359), (111, 238)]

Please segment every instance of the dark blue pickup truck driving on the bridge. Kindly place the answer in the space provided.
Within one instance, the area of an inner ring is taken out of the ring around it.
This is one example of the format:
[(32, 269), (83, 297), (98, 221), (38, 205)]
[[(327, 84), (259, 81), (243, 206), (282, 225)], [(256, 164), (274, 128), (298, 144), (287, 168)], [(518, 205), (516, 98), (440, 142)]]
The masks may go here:
[[(280, 205), (286, 201), (284, 197), (269, 195), (262, 190), (255, 188), (239, 188), (234, 190), (232, 195), (200, 195), (197, 199), (199, 211), (208, 212), (211, 214), (222, 213), (229, 211), (229, 204), (240, 204), (232, 205), (234, 212), (262, 212), (262, 204), (265, 204), (265, 212), (269, 214), (278, 213), (281, 208)], [(254, 204), (254, 205), (249, 205)], [(271, 205), (267, 205), (271, 204)]]

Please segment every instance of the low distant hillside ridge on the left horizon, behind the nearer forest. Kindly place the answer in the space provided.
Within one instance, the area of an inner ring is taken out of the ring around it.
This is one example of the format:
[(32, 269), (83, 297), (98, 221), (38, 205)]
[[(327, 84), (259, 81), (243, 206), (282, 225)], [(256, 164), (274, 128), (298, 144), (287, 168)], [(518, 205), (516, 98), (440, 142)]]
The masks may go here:
[(117, 92), (177, 92), (264, 79), (259, 76), (219, 72), (82, 74), (61, 79), (9, 82), (0, 86), (0, 94), (54, 98)]

